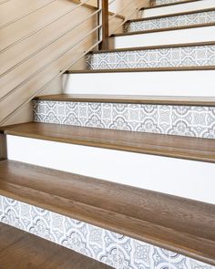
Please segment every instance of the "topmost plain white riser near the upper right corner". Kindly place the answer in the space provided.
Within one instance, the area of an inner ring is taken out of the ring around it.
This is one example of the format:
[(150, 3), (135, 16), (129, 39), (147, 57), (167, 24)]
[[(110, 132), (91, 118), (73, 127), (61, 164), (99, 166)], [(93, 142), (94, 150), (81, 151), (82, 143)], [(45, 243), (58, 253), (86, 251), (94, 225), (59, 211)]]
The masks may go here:
[(169, 6), (146, 9), (143, 12), (141, 12), (141, 17), (169, 15), (180, 12), (200, 10), (210, 7), (215, 7), (214, 0), (200, 0), (187, 4), (169, 5)]

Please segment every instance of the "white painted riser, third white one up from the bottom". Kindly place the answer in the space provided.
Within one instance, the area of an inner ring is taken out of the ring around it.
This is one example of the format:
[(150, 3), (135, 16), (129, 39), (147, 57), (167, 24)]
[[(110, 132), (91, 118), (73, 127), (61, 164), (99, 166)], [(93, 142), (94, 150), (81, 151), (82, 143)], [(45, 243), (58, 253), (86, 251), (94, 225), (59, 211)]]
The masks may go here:
[(172, 30), (110, 38), (111, 48), (147, 47), (170, 44), (198, 43), (215, 40), (215, 26)]

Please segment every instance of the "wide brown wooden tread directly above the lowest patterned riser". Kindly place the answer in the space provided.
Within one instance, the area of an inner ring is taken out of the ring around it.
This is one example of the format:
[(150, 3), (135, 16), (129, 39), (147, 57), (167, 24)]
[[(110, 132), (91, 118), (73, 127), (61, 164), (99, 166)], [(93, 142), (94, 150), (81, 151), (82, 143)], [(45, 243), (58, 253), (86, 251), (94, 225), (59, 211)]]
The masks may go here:
[(215, 264), (210, 203), (12, 160), (0, 162), (0, 194)]

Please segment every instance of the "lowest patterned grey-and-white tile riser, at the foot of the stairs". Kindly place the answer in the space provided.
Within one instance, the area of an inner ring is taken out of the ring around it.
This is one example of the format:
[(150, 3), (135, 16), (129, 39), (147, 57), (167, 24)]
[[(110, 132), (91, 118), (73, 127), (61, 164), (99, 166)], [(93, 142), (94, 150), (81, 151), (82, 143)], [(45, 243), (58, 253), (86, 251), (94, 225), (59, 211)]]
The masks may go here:
[(215, 269), (183, 255), (1, 195), (0, 222), (116, 269)]

